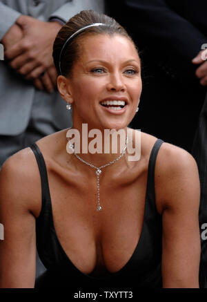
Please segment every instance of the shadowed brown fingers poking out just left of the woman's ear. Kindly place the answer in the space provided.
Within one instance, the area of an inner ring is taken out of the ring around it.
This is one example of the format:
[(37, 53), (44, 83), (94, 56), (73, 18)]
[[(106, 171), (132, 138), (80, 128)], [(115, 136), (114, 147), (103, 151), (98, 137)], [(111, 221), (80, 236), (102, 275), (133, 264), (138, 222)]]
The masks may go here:
[(39, 78), (34, 79), (33, 84), (41, 91), (46, 89), (48, 93), (52, 93), (52, 91), (57, 87), (57, 71), (55, 66), (49, 67), (44, 75), (40, 75)]

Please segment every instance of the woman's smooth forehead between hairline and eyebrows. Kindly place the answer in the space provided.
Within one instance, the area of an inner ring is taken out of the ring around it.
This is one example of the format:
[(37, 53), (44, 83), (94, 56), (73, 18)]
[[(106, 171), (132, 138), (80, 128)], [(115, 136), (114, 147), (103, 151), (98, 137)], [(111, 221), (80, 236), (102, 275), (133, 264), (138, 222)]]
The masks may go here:
[(87, 35), (79, 44), (81, 61), (93, 59), (128, 60), (140, 62), (135, 45), (127, 37), (121, 35)]

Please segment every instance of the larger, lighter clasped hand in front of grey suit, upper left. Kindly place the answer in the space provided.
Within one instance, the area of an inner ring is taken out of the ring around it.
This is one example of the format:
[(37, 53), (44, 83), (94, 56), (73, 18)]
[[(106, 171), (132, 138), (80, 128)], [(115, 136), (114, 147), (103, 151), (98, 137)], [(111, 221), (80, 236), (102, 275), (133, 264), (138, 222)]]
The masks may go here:
[(25, 15), (21, 15), (16, 23), (23, 31), (23, 38), (6, 50), (5, 57), (25, 79), (37, 79), (53, 65), (52, 46), (61, 24)]

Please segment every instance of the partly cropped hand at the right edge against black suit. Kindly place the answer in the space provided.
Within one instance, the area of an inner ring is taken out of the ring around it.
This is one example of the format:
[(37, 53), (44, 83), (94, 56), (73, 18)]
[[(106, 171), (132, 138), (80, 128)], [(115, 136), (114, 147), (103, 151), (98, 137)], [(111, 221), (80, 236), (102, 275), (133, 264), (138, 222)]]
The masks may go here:
[(200, 66), (195, 71), (195, 75), (200, 79), (202, 86), (207, 86), (207, 49), (201, 50), (198, 55), (192, 60), (193, 64)]

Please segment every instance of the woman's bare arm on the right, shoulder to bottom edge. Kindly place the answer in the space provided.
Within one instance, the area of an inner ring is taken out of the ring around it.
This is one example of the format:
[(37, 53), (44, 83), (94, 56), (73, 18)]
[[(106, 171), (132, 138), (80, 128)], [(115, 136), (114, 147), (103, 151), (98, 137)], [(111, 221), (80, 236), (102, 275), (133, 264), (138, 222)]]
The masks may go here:
[(155, 171), (162, 209), (164, 287), (199, 287), (199, 175), (193, 157), (165, 144)]

